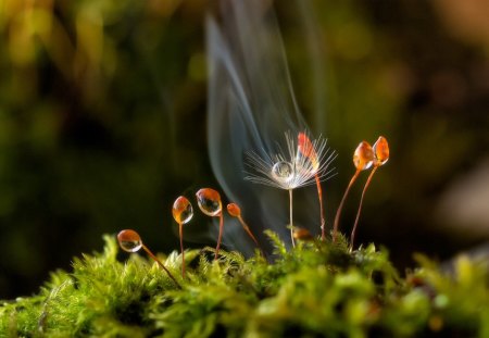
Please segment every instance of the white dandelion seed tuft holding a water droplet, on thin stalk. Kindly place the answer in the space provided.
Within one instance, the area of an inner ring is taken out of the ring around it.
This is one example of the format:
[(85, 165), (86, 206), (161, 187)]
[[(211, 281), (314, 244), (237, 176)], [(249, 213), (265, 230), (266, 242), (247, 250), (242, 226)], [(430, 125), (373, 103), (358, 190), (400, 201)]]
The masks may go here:
[(300, 133), (298, 143), (291, 133), (285, 133), (287, 153), (280, 151), (273, 155), (260, 157), (255, 152), (247, 153), (247, 165), (251, 170), (247, 172), (244, 179), (255, 184), (262, 184), (289, 191), (289, 222), (290, 238), (293, 238), (292, 190), (313, 185), (333, 176), (329, 164), (335, 159), (335, 152), (326, 148), (326, 140), (318, 138), (305, 142), (306, 134)]

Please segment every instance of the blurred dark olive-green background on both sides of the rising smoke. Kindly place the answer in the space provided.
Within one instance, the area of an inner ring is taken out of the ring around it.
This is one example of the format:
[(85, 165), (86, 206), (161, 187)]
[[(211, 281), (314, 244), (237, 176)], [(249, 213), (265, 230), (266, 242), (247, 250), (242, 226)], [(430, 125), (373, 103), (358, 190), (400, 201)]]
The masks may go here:
[[(208, 8), (0, 0), (0, 299), (35, 292), (72, 256), (100, 250), (105, 233), (135, 228), (154, 251), (178, 248), (174, 199), (214, 185)], [(489, 158), (487, 2), (316, 0), (311, 9), (323, 62), (316, 90), (297, 10), (277, 3), (300, 105), (339, 153), (324, 186), (328, 218), (354, 172), (354, 148), (384, 135), (391, 160), (367, 192), (358, 242), (387, 246), (404, 267), (413, 251), (443, 260), (486, 241), (489, 217), (451, 212), (469, 199), (489, 206), (480, 188), (489, 174), (477, 170)], [(317, 92), (322, 115), (312, 113)], [(477, 171), (479, 189), (453, 192)], [(361, 189), (347, 202), (344, 231)], [(205, 231), (205, 222), (192, 227)]]

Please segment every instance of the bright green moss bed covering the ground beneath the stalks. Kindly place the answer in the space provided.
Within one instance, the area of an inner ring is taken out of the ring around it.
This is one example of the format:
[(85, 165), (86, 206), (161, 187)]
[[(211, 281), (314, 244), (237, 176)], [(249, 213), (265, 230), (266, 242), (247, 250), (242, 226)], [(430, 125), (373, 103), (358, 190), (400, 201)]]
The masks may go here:
[(75, 259), (40, 292), (0, 306), (2, 337), (487, 337), (487, 262), (459, 258), (453, 271), (418, 255), (401, 278), (385, 249), (349, 252), (336, 243), (298, 241), (287, 251), (268, 233), (275, 254), (213, 249), (160, 255), (183, 288), (138, 254), (117, 261), (105, 236), (103, 253)]

